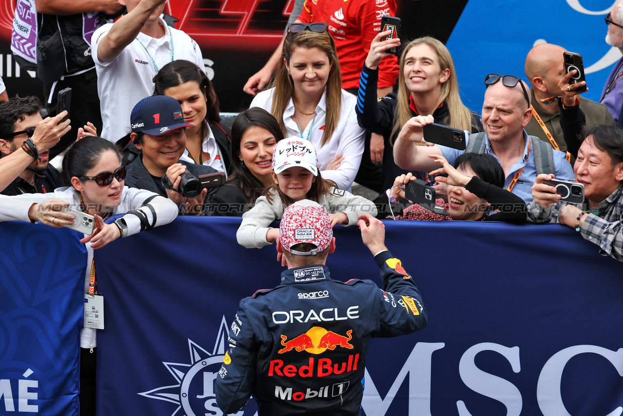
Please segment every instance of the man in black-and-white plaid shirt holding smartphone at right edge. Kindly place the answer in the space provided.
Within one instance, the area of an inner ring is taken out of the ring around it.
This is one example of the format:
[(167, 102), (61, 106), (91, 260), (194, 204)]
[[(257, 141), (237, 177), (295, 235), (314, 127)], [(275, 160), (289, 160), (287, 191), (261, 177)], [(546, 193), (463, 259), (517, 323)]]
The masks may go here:
[(597, 244), (600, 254), (623, 261), (623, 130), (608, 124), (587, 126), (580, 139), (573, 170), (576, 181), (584, 185), (584, 202), (559, 201), (556, 188), (543, 183), (554, 176), (538, 175), (528, 221), (553, 220), (573, 227)]

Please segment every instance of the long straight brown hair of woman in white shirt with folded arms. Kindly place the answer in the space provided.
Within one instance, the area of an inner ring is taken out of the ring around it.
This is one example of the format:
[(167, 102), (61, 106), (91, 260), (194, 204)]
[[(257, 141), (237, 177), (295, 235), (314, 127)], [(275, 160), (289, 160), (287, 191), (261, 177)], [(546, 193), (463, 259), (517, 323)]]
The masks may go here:
[(325, 131), (320, 141), (320, 146), (324, 146), (333, 135), (335, 127), (340, 120), (340, 107), (342, 104), (342, 75), (340, 72), (340, 62), (338, 62), (338, 52), (335, 49), (335, 42), (328, 31), (316, 33), (312, 31), (302, 31), (298, 33), (288, 32), (283, 42), (283, 50), (281, 52), (282, 64), (279, 65), (275, 80), (272, 86), (275, 87), (273, 92), (273, 102), (270, 109), (275, 119), (279, 122), (283, 135), (287, 136), (285, 124), (283, 123), (283, 112), (288, 102), (292, 98), (294, 84), (292, 77), (288, 74), (288, 69), (283, 64), (283, 59), (290, 62), (292, 52), (297, 47), (311, 49), (317, 47), (325, 52), (331, 64), (329, 77), (326, 80), (326, 120)]

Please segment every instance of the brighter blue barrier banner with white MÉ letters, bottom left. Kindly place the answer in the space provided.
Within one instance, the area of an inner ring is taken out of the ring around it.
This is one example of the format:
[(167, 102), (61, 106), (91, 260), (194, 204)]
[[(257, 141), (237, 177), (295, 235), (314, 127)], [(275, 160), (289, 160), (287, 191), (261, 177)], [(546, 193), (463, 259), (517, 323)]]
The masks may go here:
[(75, 231), (0, 225), (0, 414), (78, 416), (87, 253)]

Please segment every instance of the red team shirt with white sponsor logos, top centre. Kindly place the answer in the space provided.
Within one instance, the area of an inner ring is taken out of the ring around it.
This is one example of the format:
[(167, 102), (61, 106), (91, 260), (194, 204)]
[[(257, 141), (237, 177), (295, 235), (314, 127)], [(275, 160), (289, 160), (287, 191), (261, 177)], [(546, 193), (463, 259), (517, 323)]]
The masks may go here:
[[(305, 0), (298, 19), (326, 22), (335, 40), (342, 72), (342, 88), (359, 87), (359, 73), (370, 43), (381, 31), (381, 17), (396, 16), (395, 0)], [(379, 64), (378, 87), (393, 87), (398, 78), (398, 59), (385, 57)]]

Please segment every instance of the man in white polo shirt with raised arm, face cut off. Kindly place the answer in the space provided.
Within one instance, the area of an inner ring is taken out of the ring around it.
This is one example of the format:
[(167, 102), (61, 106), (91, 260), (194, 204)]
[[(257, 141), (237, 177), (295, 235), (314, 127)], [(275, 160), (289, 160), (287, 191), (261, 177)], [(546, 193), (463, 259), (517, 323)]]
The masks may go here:
[(166, 0), (120, 0), (128, 14), (93, 34), (91, 47), (102, 109), (102, 137), (117, 142), (130, 133), (130, 113), (153, 94), (156, 72), (174, 59), (204, 67), (196, 42), (160, 18)]

